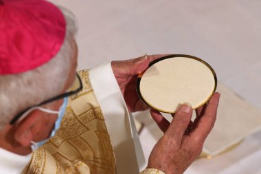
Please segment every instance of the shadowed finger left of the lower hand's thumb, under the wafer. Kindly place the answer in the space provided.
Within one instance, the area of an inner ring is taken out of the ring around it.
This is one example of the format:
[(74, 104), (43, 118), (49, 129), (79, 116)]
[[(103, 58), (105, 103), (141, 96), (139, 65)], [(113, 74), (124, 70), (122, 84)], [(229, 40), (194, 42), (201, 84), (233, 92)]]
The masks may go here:
[(150, 115), (157, 123), (159, 129), (165, 133), (170, 126), (170, 122), (164, 118), (159, 111), (155, 111), (154, 109), (150, 109)]

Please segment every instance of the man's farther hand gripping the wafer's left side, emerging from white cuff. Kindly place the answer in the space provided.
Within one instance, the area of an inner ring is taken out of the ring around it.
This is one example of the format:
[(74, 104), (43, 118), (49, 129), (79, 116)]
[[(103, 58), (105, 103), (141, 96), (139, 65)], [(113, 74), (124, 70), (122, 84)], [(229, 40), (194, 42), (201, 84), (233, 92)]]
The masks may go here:
[(139, 58), (133, 58), (126, 61), (113, 61), (111, 63), (113, 74), (120, 86), (122, 95), (124, 96), (124, 100), (130, 111), (144, 111), (148, 109), (148, 106), (139, 100), (139, 96), (137, 96), (137, 75), (144, 72), (151, 61), (163, 56), (166, 55), (145, 55)]

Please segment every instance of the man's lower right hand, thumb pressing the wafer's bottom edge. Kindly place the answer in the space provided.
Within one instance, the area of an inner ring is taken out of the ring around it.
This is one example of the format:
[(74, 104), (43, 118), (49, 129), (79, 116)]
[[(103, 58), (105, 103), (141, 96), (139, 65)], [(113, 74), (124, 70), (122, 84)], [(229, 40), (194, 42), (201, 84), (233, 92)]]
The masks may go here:
[(181, 105), (169, 123), (161, 113), (151, 110), (152, 118), (164, 132), (152, 149), (148, 168), (157, 168), (167, 174), (181, 174), (200, 155), (207, 135), (214, 127), (220, 94), (215, 93), (206, 105), (196, 109)]

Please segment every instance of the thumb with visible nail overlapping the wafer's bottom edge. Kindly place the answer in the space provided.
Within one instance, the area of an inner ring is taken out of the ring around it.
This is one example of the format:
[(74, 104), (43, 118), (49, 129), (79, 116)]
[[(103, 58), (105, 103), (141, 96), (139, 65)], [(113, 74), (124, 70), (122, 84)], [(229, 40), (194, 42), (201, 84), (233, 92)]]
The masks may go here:
[(170, 123), (170, 127), (166, 131), (166, 135), (171, 136), (174, 140), (177, 140), (178, 144), (181, 144), (181, 140), (185, 133), (185, 130), (190, 124), (192, 118), (192, 107), (190, 105), (181, 105), (175, 116)]

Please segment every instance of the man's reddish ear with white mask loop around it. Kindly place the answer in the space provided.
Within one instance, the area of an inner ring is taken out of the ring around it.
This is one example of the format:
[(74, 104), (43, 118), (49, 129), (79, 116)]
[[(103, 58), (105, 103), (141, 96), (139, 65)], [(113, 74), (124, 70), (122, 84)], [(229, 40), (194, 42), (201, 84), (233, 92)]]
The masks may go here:
[(34, 110), (30, 112), (21, 122), (16, 123), (14, 131), (14, 139), (22, 146), (30, 146), (31, 141), (34, 138), (34, 134), (37, 132), (36, 128), (41, 129), (41, 111)]

